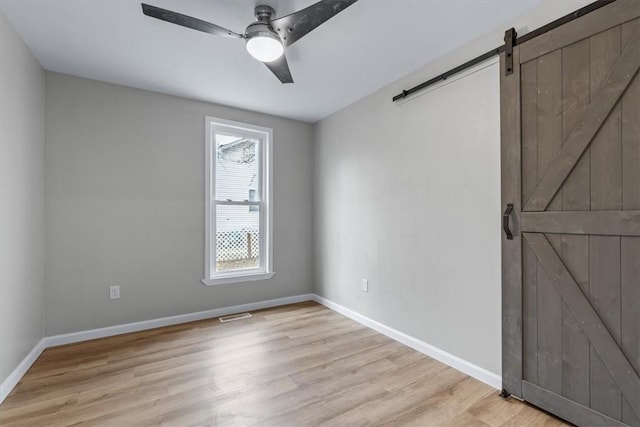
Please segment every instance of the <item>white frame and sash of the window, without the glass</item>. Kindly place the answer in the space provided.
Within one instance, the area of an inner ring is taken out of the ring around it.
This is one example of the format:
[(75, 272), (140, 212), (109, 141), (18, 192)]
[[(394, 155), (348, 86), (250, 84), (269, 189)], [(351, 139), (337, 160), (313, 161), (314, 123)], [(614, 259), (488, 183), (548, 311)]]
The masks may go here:
[[(260, 141), (260, 185), (261, 200), (259, 202), (228, 202), (215, 200), (216, 188), (216, 140), (215, 134), (232, 134)], [(273, 129), (234, 122), (207, 116), (205, 119), (205, 277), (202, 283), (206, 286), (226, 283), (242, 283), (255, 280), (266, 280), (274, 276), (273, 271)], [(260, 266), (257, 269), (216, 272), (216, 206), (247, 205), (260, 206)]]

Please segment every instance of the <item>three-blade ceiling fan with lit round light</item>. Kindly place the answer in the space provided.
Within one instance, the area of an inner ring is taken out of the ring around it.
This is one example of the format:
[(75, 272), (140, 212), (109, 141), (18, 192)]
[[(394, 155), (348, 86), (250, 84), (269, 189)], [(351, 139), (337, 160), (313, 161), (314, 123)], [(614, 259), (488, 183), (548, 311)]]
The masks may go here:
[(264, 63), (282, 83), (293, 83), (284, 55), (284, 48), (328, 21), (357, 0), (321, 0), (311, 6), (281, 18), (274, 18), (275, 10), (266, 5), (255, 8), (257, 21), (249, 24), (243, 34), (198, 18), (142, 3), (142, 12), (152, 18), (182, 25), (217, 36), (244, 39), (247, 51)]

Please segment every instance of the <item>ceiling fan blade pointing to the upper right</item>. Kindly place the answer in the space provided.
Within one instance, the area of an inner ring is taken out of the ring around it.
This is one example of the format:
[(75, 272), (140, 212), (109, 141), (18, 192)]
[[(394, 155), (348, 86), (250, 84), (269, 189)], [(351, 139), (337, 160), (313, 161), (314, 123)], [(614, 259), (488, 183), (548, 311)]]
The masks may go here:
[(290, 46), (342, 12), (357, 0), (321, 0), (318, 3), (271, 21), (285, 46)]

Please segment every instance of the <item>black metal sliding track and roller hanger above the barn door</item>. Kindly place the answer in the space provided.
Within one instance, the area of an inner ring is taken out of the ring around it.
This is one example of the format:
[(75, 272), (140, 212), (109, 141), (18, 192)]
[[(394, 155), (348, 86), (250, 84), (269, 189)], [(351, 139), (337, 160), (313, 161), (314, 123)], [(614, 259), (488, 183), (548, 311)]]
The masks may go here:
[[(447, 72), (444, 72), (432, 79), (427, 80), (426, 82), (420, 83), (418, 86), (414, 86), (411, 89), (406, 89), (403, 90), (402, 92), (400, 92), (399, 94), (397, 94), (396, 96), (393, 97), (393, 102), (398, 101), (400, 99), (404, 99), (406, 97), (408, 97), (409, 95), (412, 95), (418, 91), (421, 91), (422, 89), (431, 86), (432, 84), (441, 82), (443, 80), (447, 80), (449, 77), (451, 77), (454, 74), (458, 74), (460, 71), (464, 71), (467, 68), (473, 67), (476, 64), (479, 64), (480, 62), (486, 61), (489, 58), (492, 58), (495, 55), (500, 55), (502, 52), (505, 53), (512, 53), (512, 51), (508, 52), (508, 48), (509, 45), (508, 43), (511, 43), (511, 47), (510, 49), (513, 49), (513, 46), (522, 44), (524, 42), (526, 42), (527, 40), (531, 40), (532, 38), (538, 37), (541, 34), (544, 34), (546, 32), (549, 32), (551, 30), (553, 30), (554, 28), (557, 28), (561, 25), (566, 24), (567, 22), (571, 22), (574, 19), (580, 18), (581, 16), (584, 16), (588, 13), (593, 12), (594, 10), (598, 10), (603, 6), (606, 6), (610, 3), (613, 3), (616, 0), (597, 0), (594, 3), (591, 3), (585, 7), (583, 7), (582, 9), (578, 9), (573, 13), (570, 13), (568, 15), (563, 16), (562, 18), (556, 19), (555, 21), (538, 28), (537, 30), (534, 30), (530, 33), (525, 34), (522, 37), (517, 37), (516, 34), (516, 30), (511, 28), (510, 30), (507, 30), (507, 32), (505, 33), (505, 44), (502, 46), (499, 46), (495, 49), (491, 49), (490, 51), (483, 53), (480, 56), (477, 56), (475, 58), (473, 58), (470, 61), (465, 62), (462, 65), (458, 65), (455, 68), (450, 69)], [(509, 38), (510, 41), (507, 40), (507, 38)], [(507, 64), (509, 64), (508, 61), (510, 62), (510, 66), (507, 65), (507, 69), (505, 70), (507, 75), (513, 73), (513, 56), (511, 57), (506, 57), (505, 58), (507, 60)], [(511, 68), (511, 70), (509, 70), (509, 68)]]

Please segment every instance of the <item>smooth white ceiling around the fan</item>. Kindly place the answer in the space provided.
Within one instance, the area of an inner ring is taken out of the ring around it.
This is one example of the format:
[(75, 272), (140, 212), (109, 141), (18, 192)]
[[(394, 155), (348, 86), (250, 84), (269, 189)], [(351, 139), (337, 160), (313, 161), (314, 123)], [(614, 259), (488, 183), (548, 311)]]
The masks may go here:
[[(145, 0), (240, 33), (256, 4), (280, 17), (315, 1)], [(149, 18), (139, 0), (0, 0), (0, 8), (47, 70), (313, 122), (506, 28), (538, 1), (360, 0), (288, 48), (290, 85), (242, 40)]]

